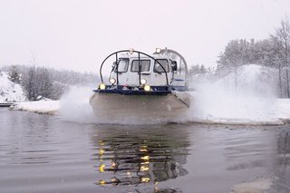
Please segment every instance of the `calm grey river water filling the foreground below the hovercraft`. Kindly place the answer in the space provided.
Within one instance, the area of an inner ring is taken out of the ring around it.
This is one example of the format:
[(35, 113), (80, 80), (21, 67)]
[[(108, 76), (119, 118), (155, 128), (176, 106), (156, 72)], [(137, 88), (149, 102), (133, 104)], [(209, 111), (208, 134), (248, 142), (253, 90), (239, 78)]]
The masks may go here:
[[(290, 192), (290, 126), (105, 125), (0, 109), (0, 192)], [(265, 184), (264, 184), (265, 185)]]

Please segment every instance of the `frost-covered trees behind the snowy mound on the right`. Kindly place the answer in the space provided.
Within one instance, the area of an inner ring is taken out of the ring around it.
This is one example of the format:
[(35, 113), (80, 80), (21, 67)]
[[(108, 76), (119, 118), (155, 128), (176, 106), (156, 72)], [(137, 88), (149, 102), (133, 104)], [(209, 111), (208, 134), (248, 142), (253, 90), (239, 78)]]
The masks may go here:
[[(277, 70), (279, 96), (290, 98), (290, 22), (286, 16), (268, 38), (236, 39), (218, 56), (217, 73), (235, 72), (240, 65), (256, 63)], [(236, 82), (237, 84), (237, 82)]]

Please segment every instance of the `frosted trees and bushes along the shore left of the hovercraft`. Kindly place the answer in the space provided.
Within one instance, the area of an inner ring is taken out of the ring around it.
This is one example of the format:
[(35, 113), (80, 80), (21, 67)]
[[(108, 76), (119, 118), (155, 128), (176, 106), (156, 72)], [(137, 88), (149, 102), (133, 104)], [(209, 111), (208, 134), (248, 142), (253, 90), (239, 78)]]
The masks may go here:
[(29, 101), (40, 98), (58, 100), (70, 85), (90, 85), (99, 80), (97, 74), (88, 72), (58, 71), (53, 68), (12, 65), (2, 68), (12, 82), (19, 83)]

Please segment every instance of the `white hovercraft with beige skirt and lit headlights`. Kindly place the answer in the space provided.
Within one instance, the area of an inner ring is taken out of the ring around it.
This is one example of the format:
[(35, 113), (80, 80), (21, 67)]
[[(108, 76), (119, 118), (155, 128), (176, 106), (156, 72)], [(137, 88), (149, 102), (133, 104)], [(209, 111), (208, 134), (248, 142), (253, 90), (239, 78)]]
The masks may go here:
[[(111, 57), (111, 74), (104, 82), (102, 67)], [(90, 99), (99, 118), (114, 119), (118, 114), (170, 119), (189, 109), (187, 63), (173, 50), (158, 48), (152, 55), (133, 49), (111, 53), (102, 62), (100, 76), (102, 83)]]

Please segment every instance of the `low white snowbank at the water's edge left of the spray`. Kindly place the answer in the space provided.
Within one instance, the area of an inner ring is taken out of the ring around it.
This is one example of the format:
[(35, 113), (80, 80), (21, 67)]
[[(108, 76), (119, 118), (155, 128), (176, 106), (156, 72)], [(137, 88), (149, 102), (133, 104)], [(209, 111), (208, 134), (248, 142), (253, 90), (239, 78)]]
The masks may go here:
[(43, 114), (56, 114), (60, 110), (60, 106), (60, 101), (24, 101), (16, 103), (11, 109)]

